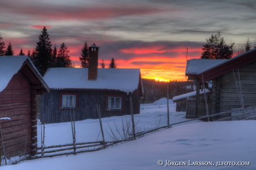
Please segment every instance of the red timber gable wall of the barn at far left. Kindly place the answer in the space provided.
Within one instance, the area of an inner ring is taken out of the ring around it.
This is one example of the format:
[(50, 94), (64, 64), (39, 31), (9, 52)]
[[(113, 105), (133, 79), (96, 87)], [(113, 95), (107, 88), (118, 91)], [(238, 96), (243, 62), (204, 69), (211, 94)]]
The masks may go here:
[[(14, 74), (8, 86), (0, 92), (0, 120), (3, 144), (6, 156), (31, 155), (32, 120), (31, 120), (31, 83), (19, 71)], [(27, 141), (27, 142), (26, 142)], [(1, 149), (3, 156), (3, 149)]]

